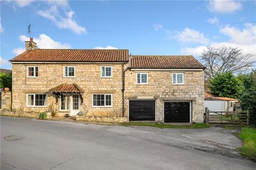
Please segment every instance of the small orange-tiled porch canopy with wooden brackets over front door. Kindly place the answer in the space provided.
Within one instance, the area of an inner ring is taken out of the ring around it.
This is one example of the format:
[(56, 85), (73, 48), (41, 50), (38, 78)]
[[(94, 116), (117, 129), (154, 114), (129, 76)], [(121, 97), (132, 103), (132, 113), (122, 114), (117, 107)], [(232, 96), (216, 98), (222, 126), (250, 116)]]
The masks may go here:
[(55, 95), (56, 103), (58, 103), (58, 98), (60, 97), (61, 94), (64, 94), (64, 95), (80, 94), (81, 103), (83, 103), (82, 93), (84, 92), (84, 90), (75, 83), (60, 84), (59, 86), (56, 86), (56, 87), (50, 89), (49, 92), (51, 92), (51, 94)]

